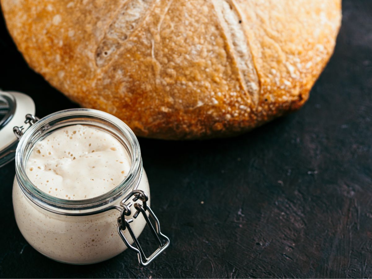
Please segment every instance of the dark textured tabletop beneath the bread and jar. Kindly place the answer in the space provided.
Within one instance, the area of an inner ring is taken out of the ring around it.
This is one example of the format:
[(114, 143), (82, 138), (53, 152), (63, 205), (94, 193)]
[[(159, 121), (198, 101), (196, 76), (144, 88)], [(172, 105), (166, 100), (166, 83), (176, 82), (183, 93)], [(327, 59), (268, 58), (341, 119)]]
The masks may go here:
[[(28, 93), (39, 116), (76, 107), (27, 67), (3, 19), (0, 35), (1, 89)], [(11, 163), (0, 169), (0, 276), (372, 277), (371, 125), (372, 1), (349, 0), (335, 53), (298, 112), (225, 140), (140, 139), (171, 238), (153, 264), (139, 267), (131, 251), (90, 266), (36, 252), (13, 216)]]

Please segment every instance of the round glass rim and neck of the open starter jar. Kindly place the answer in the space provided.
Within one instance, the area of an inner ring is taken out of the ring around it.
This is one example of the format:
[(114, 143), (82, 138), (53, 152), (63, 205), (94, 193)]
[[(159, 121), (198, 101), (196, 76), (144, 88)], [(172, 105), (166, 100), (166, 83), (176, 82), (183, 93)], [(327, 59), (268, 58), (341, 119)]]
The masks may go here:
[[(89, 125), (112, 134), (126, 148), (131, 168), (125, 179), (103, 195), (82, 199), (61, 199), (38, 189), (26, 174), (28, 157), (35, 143), (57, 129), (71, 125)], [(132, 189), (137, 189), (142, 176), (141, 150), (133, 131), (119, 118), (95, 109), (67, 109), (52, 113), (30, 126), (19, 140), (16, 150), (16, 178), (25, 195), (36, 205), (63, 215), (90, 215), (107, 206)]]

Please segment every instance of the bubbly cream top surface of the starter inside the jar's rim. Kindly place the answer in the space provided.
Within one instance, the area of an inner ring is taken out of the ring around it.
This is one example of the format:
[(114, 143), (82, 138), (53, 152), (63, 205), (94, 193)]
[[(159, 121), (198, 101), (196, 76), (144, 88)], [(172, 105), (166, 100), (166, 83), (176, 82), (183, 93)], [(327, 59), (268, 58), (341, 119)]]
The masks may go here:
[(130, 167), (128, 153), (115, 137), (74, 125), (37, 142), (26, 173), (36, 187), (51, 196), (89, 199), (118, 186)]

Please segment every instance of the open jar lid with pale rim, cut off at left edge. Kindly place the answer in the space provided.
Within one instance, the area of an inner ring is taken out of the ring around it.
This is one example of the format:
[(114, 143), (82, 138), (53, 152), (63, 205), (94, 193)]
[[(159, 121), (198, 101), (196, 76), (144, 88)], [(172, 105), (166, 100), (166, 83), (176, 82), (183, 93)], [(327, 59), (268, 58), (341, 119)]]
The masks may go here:
[(0, 90), (0, 167), (15, 158), (18, 139), (13, 127), (21, 127), (26, 114), (35, 114), (35, 103), (26, 94)]

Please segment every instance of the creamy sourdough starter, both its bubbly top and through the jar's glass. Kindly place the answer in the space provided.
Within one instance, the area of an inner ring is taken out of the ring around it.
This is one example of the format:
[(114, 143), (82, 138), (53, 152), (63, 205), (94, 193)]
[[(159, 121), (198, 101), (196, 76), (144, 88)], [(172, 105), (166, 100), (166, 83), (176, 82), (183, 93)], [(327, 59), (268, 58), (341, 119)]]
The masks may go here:
[[(35, 187), (48, 195), (81, 200), (114, 189), (125, 179), (130, 167), (128, 153), (115, 137), (90, 126), (73, 125), (36, 142), (26, 173)], [(149, 195), (144, 171), (138, 189)], [(23, 236), (36, 250), (52, 259), (75, 264), (95, 263), (126, 249), (116, 230), (120, 214), (117, 210), (87, 216), (55, 214), (31, 202), (16, 179), (13, 206)], [(132, 214), (134, 212), (132, 208)], [(137, 236), (144, 225), (141, 214), (131, 223)], [(125, 234), (131, 240), (129, 234)]]

